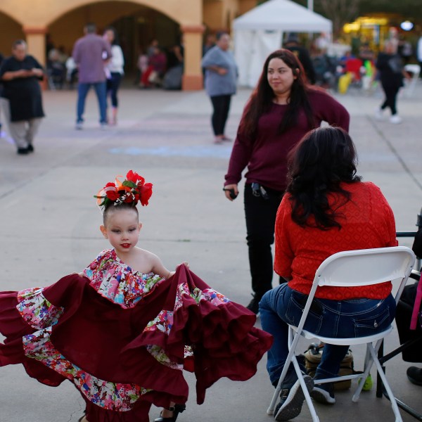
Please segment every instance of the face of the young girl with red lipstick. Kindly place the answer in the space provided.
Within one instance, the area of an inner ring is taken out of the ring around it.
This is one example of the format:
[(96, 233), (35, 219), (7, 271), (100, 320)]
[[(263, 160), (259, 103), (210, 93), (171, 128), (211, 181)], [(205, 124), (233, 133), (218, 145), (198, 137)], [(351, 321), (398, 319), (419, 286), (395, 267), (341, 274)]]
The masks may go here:
[(134, 249), (141, 227), (136, 211), (125, 209), (110, 212), (106, 226), (101, 226), (100, 230), (119, 255), (119, 252), (127, 254)]

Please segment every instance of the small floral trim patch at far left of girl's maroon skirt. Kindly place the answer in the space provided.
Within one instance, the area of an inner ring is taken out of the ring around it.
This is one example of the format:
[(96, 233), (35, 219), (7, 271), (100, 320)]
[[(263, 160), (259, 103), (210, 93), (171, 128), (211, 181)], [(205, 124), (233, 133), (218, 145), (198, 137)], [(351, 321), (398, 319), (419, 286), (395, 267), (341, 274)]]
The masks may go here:
[(44, 288), (35, 287), (18, 292), (16, 309), (32, 328), (43, 329), (57, 324), (63, 307), (56, 307), (44, 298)]

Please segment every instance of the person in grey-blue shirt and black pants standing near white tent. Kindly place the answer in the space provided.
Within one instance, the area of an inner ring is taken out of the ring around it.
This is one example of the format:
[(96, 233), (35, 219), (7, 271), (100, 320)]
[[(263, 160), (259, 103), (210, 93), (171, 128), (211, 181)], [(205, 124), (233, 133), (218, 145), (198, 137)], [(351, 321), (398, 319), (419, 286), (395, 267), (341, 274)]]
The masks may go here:
[(217, 43), (202, 59), (205, 68), (205, 90), (210, 96), (212, 108), (212, 129), (215, 143), (230, 141), (224, 134), (229, 117), (231, 96), (236, 94), (238, 69), (234, 56), (229, 51), (230, 37), (226, 32), (217, 34)]

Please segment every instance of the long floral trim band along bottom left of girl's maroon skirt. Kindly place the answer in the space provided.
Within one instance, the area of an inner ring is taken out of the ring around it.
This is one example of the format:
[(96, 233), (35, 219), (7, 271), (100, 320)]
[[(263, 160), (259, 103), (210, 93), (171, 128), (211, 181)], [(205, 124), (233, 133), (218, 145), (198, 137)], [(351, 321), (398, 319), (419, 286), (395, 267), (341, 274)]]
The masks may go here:
[(50, 340), (51, 327), (23, 337), (25, 356), (35, 359), (72, 381), (90, 402), (104, 409), (129, 411), (134, 403), (151, 391), (136, 384), (111, 383), (82, 371), (55, 349)]

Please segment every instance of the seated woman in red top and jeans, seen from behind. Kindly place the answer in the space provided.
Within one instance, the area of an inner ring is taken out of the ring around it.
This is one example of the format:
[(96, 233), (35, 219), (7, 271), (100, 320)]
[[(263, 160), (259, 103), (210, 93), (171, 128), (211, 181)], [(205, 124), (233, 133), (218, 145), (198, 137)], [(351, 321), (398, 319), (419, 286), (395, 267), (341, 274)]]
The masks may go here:
[[(292, 151), (288, 186), (276, 216), (274, 269), (288, 280), (264, 294), (260, 302), (264, 331), (274, 336), (267, 370), (276, 385), (288, 355), (288, 324), (298, 325), (314, 274), (335, 252), (396, 246), (395, 219), (378, 186), (356, 174), (356, 152), (343, 129), (309, 132)], [(395, 316), (391, 283), (316, 290), (304, 328), (328, 337), (361, 337), (385, 330)], [(338, 375), (348, 346), (325, 345), (316, 379)], [(305, 369), (304, 369), (305, 371)], [(276, 421), (300, 414), (304, 395), (293, 365), (283, 382)], [(311, 396), (335, 403), (333, 383), (314, 387)], [(312, 390), (313, 388), (313, 390)]]

